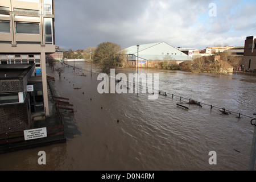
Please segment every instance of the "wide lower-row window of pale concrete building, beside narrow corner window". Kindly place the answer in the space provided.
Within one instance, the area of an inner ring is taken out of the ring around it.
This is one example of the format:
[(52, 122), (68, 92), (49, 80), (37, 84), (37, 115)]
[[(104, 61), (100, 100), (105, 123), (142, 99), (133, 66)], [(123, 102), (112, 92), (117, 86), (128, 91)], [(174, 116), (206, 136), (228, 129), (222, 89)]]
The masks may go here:
[(16, 22), (16, 34), (40, 34), (39, 23)]

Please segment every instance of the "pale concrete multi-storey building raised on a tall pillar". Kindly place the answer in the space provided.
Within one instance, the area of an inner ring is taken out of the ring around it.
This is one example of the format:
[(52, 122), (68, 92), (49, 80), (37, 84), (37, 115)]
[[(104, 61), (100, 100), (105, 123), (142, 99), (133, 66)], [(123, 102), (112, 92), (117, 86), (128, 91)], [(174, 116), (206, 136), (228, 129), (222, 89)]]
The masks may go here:
[(46, 116), (49, 115), (46, 55), (55, 53), (53, 7), (53, 0), (1, 0), (0, 3), (0, 64), (35, 64), (36, 76), (42, 82)]

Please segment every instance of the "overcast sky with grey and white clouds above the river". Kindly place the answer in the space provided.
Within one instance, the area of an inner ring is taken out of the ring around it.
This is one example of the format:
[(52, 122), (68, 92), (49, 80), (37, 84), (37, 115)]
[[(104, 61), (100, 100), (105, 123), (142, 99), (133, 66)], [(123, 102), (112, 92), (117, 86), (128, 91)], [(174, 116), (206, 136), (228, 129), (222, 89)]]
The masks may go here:
[(246, 36), (256, 35), (255, 10), (255, 0), (55, 0), (56, 46), (244, 46)]

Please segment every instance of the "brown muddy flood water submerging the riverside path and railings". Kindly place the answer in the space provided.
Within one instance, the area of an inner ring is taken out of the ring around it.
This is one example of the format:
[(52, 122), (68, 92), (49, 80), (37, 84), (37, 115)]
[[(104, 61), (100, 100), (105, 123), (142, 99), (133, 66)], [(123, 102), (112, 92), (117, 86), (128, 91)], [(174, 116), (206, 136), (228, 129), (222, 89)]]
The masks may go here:
[[(76, 66), (90, 70), (87, 63)], [(185, 110), (176, 105), (180, 99), (171, 95), (150, 101), (148, 94), (99, 94), (98, 75), (90, 77), (84, 71), (83, 77), (79, 76), (81, 69), (76, 69), (76, 74), (72, 71), (65, 67), (59, 79), (48, 68), (48, 75), (55, 77), (61, 97), (74, 105), (73, 117), (81, 135), (64, 144), (0, 155), (1, 170), (248, 169), (254, 129), (250, 118), (224, 115), (205, 105), (186, 105), (189, 109)], [(93, 71), (100, 72), (95, 67)], [(148, 69), (139, 72), (159, 73), (159, 88), (168, 93), (251, 117), (256, 112), (256, 77)], [(44, 166), (38, 164), (42, 150), (47, 158)], [(216, 151), (217, 165), (209, 164), (210, 151)]]

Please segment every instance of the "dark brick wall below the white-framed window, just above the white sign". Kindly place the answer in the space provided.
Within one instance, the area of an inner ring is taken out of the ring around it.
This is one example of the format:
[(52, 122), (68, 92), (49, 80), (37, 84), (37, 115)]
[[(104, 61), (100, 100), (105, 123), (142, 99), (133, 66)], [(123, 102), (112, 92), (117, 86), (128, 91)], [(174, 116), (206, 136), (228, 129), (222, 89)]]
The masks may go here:
[(31, 114), (28, 111), (28, 95), (22, 104), (0, 105), (0, 133), (30, 129)]

